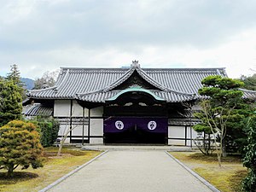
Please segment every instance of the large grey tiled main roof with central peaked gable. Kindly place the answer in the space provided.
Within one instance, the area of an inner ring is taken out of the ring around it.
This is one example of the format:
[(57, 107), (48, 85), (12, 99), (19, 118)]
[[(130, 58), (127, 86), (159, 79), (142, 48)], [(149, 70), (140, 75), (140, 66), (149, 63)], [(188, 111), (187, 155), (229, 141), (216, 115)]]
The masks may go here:
[(137, 72), (158, 90), (150, 90), (166, 102), (195, 99), (201, 80), (209, 75), (226, 76), (224, 68), (73, 68), (63, 67), (54, 87), (32, 90), (33, 99), (73, 99), (104, 102), (121, 90), (113, 90)]

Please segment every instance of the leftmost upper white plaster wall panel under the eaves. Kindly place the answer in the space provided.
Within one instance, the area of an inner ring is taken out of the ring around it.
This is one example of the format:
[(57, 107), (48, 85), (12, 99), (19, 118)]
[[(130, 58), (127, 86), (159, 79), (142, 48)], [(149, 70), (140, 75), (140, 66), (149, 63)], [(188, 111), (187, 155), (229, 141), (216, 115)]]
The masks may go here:
[(69, 117), (70, 116), (70, 100), (55, 100), (54, 116)]

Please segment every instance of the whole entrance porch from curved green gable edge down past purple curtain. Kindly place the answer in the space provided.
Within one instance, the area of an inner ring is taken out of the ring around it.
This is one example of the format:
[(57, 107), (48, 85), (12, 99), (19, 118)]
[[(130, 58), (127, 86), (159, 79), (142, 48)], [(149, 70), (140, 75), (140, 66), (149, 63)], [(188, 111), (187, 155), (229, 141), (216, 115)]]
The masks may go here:
[(166, 112), (166, 101), (150, 90), (122, 90), (104, 107), (104, 143), (166, 144)]

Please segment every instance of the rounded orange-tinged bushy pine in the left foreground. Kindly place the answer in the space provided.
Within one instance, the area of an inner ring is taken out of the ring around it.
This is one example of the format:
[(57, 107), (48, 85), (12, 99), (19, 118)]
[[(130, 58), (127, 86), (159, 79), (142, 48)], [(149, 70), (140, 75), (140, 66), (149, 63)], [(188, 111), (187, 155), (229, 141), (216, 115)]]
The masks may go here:
[(0, 128), (0, 169), (8, 170), (9, 177), (18, 166), (22, 169), (43, 166), (43, 147), (36, 129), (32, 123), (21, 120), (10, 121)]

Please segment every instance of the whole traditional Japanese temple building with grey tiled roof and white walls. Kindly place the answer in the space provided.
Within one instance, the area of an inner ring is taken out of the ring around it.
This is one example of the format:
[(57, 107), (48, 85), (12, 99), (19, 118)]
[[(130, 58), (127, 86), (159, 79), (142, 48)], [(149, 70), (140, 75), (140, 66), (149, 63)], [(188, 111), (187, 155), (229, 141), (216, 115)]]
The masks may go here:
[[(224, 68), (62, 67), (55, 86), (31, 90), (38, 111), (61, 123), (59, 137), (67, 143), (143, 143), (192, 145), (197, 133), (201, 80), (227, 77)], [(255, 92), (245, 91), (246, 96)]]

